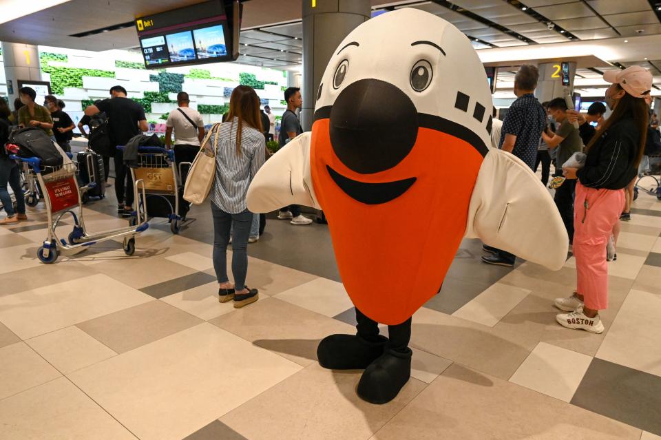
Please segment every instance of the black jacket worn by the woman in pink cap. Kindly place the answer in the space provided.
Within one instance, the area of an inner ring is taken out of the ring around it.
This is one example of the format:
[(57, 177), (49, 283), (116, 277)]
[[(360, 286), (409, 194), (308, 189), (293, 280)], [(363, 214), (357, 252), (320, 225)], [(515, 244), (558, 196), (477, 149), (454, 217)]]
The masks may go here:
[(622, 189), (638, 174), (640, 132), (633, 118), (622, 118), (603, 133), (587, 152), (585, 167), (576, 171), (584, 187)]

